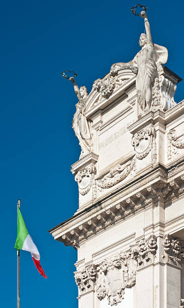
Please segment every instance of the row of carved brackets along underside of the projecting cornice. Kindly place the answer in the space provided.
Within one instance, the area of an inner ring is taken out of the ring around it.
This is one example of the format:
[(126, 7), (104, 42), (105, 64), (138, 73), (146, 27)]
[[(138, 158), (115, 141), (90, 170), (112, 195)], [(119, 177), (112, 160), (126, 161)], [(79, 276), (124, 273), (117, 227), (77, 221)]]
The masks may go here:
[(103, 232), (115, 223), (120, 222), (122, 219), (135, 214), (137, 211), (142, 210), (146, 206), (155, 206), (158, 202), (167, 202), (177, 198), (179, 194), (184, 193), (184, 189), (181, 189), (183, 182), (177, 182), (177, 185), (158, 181), (154, 184), (147, 185), (146, 189), (140, 192), (134, 191), (131, 197), (126, 198), (117, 203), (117, 201), (111, 201), (96, 211), (89, 213), (88, 216), (81, 217), (81, 223), (73, 224), (74, 232), (68, 231), (66, 227), (64, 236), (54, 235), (55, 239), (63, 242), (66, 246), (73, 246), (77, 249), (83, 241), (86, 241), (89, 237), (95, 236), (99, 232)]

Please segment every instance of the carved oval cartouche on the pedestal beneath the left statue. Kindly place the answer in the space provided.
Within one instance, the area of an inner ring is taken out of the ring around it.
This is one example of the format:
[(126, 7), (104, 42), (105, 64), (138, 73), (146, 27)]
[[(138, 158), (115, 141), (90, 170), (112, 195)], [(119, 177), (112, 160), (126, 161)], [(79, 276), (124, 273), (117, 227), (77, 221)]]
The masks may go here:
[(89, 192), (93, 184), (93, 174), (95, 173), (95, 165), (82, 168), (77, 172), (75, 181), (78, 183), (78, 190), (81, 195), (86, 195)]

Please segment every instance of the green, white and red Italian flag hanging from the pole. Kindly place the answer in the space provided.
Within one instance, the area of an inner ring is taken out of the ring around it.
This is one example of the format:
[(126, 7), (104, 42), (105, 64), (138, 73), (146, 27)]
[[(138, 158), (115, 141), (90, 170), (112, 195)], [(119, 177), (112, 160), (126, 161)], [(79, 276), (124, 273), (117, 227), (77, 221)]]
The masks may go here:
[(17, 207), (17, 240), (15, 243), (15, 249), (17, 250), (26, 250), (31, 253), (35, 266), (39, 273), (47, 278), (44, 273), (43, 268), (40, 265), (40, 254), (38, 248), (36, 247), (35, 243), (33, 242), (32, 238), (29, 235), (27, 227), (25, 225), (23, 216), (21, 214), (19, 206)]

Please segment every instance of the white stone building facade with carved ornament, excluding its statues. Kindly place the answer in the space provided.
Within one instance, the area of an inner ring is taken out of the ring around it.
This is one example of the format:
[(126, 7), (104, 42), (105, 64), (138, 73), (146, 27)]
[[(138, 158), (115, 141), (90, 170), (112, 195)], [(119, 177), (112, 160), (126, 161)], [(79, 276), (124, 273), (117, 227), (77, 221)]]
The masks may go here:
[[(162, 65), (139, 116), (134, 67), (94, 83), (93, 151), (72, 165), (74, 215), (49, 230), (77, 249), (79, 308), (179, 308), (184, 301), (184, 101)], [(173, 107), (172, 107), (173, 106)]]

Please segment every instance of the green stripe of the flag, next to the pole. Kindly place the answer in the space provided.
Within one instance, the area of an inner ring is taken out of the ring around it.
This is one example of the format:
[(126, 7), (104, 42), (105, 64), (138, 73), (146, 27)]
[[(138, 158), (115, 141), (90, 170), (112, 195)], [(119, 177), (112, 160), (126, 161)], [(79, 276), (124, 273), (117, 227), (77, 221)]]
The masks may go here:
[(17, 208), (17, 216), (17, 240), (15, 243), (15, 249), (19, 250), (22, 249), (24, 241), (29, 233), (19, 207)]

